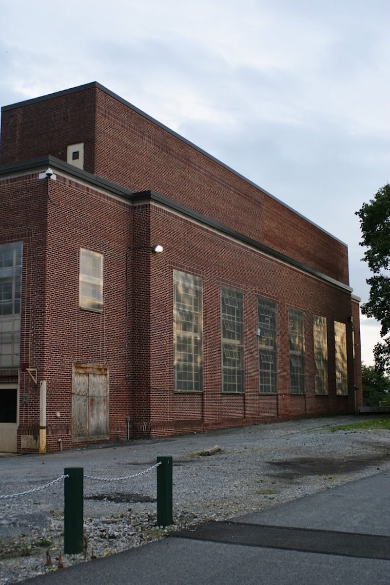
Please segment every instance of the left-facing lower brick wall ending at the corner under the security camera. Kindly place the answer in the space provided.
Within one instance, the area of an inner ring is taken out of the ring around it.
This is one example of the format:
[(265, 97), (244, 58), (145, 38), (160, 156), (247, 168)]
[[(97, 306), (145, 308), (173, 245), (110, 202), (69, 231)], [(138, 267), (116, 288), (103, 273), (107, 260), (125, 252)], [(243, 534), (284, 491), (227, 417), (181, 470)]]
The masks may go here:
[[(44, 283), (46, 278), (46, 185), (37, 173), (0, 181), (0, 243), (23, 242), (20, 363), (44, 367)], [(26, 403), (23, 404), (23, 395)], [(19, 437), (39, 434), (39, 386), (20, 372)]]

